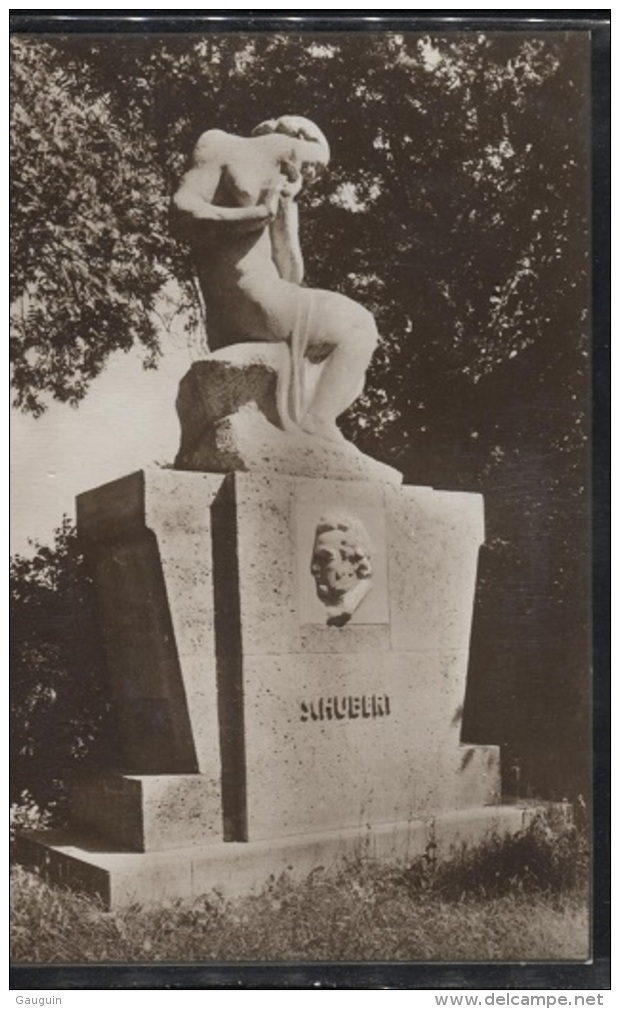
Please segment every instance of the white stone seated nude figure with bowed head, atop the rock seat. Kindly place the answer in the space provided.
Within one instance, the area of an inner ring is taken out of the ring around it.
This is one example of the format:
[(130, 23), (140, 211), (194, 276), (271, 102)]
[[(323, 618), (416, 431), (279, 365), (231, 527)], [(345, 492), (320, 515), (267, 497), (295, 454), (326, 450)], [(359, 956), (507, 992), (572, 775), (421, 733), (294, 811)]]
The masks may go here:
[[(286, 341), (291, 373), (284, 426), (341, 441), (336, 418), (364, 388), (378, 334), (360, 305), (301, 287), (295, 198), (328, 160), (322, 132), (301, 116), (270, 119), (249, 137), (208, 130), (173, 207), (192, 244), (210, 348)], [(324, 358), (310, 402), (304, 357)]]

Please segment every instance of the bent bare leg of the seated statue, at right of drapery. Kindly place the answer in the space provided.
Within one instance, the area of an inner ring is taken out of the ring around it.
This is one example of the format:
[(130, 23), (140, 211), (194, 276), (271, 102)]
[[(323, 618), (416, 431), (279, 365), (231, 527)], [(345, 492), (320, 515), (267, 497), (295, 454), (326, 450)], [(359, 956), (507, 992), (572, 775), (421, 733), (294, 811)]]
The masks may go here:
[(336, 418), (361, 393), (379, 334), (371, 313), (348, 299), (334, 296), (332, 304), (325, 302), (324, 312), (328, 323), (314, 330), (309, 343), (326, 344), (331, 352), (301, 427), (328, 441), (342, 441)]

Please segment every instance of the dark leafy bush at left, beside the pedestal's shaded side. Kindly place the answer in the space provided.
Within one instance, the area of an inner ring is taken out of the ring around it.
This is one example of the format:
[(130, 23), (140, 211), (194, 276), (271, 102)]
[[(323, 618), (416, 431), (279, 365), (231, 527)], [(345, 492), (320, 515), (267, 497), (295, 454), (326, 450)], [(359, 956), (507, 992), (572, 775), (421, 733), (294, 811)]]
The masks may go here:
[(106, 675), (90, 579), (69, 520), (51, 546), (11, 560), (11, 799), (64, 798), (109, 739)]

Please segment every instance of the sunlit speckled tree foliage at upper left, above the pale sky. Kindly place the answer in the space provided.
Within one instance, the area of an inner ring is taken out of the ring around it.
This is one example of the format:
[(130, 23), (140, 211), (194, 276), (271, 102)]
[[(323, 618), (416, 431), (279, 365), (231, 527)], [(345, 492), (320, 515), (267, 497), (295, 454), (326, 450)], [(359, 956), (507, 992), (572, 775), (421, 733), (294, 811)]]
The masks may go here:
[(11, 360), (17, 406), (38, 414), (42, 394), (77, 404), (115, 350), (154, 364), (174, 250), (152, 138), (129, 139), (54, 44), (13, 50)]

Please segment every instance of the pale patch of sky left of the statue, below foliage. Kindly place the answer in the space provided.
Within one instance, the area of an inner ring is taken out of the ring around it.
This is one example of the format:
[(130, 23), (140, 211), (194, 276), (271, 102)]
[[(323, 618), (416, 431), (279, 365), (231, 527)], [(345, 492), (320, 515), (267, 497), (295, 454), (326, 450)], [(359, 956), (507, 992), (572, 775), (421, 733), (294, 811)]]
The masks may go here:
[(162, 336), (157, 370), (138, 351), (117, 352), (77, 409), (53, 404), (42, 417), (11, 412), (11, 553), (51, 543), (75, 496), (144, 466), (171, 463), (179, 447), (175, 400), (196, 353), (182, 334)]

